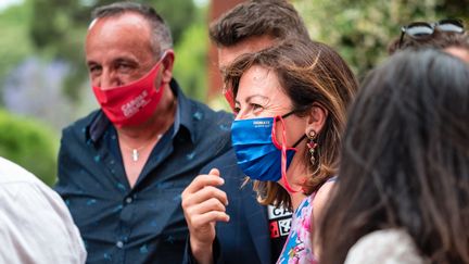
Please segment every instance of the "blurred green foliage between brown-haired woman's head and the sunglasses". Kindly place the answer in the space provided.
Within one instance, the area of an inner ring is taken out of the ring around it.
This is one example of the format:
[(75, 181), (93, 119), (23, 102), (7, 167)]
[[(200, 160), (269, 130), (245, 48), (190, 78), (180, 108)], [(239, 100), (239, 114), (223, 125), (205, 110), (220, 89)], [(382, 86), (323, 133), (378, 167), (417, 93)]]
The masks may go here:
[[(469, 18), (468, 0), (295, 0), (313, 39), (335, 48), (360, 79), (388, 56), (401, 26)], [(466, 24), (467, 26), (467, 24)]]

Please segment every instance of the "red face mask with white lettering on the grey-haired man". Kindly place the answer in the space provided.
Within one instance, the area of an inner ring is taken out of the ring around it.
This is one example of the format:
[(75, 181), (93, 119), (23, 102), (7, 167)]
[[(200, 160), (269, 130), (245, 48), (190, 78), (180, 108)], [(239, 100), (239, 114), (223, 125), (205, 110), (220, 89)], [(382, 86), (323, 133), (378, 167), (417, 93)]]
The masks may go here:
[(165, 55), (148, 74), (134, 83), (106, 90), (92, 87), (102, 111), (115, 126), (140, 125), (153, 115), (163, 97), (165, 83), (162, 81), (156, 89), (154, 81)]

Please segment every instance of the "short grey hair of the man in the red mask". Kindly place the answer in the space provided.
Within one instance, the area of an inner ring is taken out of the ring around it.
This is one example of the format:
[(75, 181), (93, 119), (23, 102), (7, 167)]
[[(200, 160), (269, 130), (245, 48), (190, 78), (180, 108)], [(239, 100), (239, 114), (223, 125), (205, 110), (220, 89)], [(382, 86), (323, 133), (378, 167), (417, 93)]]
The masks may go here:
[(137, 2), (115, 2), (94, 9), (91, 17), (94, 22), (103, 17), (119, 16), (127, 12), (140, 14), (149, 22), (152, 29), (151, 47), (156, 56), (160, 56), (165, 50), (173, 48), (170, 29), (163, 17), (152, 7)]

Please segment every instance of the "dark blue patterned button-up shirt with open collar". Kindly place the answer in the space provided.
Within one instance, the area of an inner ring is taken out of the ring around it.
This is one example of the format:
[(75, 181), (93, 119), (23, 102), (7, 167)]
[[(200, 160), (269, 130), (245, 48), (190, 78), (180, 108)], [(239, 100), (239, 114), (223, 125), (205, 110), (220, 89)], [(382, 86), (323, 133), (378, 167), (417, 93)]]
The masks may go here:
[(87, 263), (179, 263), (188, 228), (185, 187), (231, 148), (232, 114), (187, 99), (175, 80), (175, 122), (130, 188), (114, 126), (102, 111), (63, 130), (55, 190), (88, 251)]

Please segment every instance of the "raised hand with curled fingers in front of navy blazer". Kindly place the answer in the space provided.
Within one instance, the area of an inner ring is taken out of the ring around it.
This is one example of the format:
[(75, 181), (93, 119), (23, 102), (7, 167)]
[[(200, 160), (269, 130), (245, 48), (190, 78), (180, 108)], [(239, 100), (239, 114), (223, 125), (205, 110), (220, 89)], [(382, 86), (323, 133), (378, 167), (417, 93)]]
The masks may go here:
[(212, 263), (215, 224), (228, 222), (228, 199), (217, 187), (225, 184), (217, 168), (197, 176), (182, 191), (182, 210), (190, 232), (190, 247), (198, 263)]

